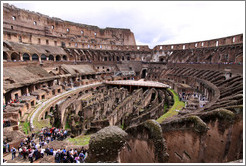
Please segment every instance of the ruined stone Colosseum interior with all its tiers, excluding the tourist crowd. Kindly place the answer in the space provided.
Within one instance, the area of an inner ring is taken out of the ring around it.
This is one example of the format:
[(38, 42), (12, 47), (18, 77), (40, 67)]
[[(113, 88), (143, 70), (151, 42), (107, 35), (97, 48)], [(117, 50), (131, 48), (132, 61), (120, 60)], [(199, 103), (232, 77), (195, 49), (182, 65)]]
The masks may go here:
[(56, 127), (69, 136), (54, 147), (81, 148), (69, 140), (89, 136), (88, 163), (243, 159), (243, 34), (150, 49), (130, 29), (5, 3), (2, 53), (2, 139), (10, 148)]

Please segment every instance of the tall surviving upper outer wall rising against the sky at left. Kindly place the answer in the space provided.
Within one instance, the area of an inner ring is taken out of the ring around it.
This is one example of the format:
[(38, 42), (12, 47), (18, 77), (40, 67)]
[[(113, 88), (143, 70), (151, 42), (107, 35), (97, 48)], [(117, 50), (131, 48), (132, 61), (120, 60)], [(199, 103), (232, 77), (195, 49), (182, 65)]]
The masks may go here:
[(136, 45), (134, 34), (129, 29), (100, 29), (8, 4), (3, 6), (3, 16), (4, 39), (9, 41), (68, 47)]

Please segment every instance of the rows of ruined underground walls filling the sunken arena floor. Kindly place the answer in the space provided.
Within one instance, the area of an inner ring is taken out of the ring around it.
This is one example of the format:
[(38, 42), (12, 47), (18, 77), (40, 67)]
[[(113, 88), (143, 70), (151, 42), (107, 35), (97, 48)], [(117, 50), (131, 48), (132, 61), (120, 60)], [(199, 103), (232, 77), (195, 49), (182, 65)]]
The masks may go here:
[(126, 128), (145, 120), (157, 119), (163, 113), (165, 93), (137, 89), (129, 93), (117, 87), (99, 87), (73, 95), (57, 103), (53, 124), (70, 126), (74, 135), (82, 131), (98, 131), (107, 125)]

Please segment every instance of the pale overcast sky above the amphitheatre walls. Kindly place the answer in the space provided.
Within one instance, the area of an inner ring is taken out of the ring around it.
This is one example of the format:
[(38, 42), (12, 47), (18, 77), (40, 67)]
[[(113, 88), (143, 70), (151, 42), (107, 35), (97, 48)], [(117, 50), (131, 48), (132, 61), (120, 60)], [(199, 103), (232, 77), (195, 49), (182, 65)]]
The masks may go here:
[(136, 43), (195, 42), (245, 32), (245, 2), (8, 2), (19, 8), (100, 28), (129, 28)]

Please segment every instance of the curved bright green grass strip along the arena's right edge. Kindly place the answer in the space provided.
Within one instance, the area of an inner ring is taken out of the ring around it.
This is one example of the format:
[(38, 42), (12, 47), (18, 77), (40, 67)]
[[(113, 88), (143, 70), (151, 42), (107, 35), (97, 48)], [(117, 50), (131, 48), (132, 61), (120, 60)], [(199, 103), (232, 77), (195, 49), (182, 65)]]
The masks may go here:
[[(174, 104), (167, 113), (163, 114), (160, 118), (156, 120), (158, 123), (162, 123), (165, 119), (177, 115), (178, 112), (175, 110), (181, 110), (185, 106), (185, 103), (179, 100), (178, 94), (173, 89), (168, 90), (173, 94)], [(166, 108), (164, 105), (164, 111), (166, 111), (165, 109), (167, 109), (167, 105)]]

